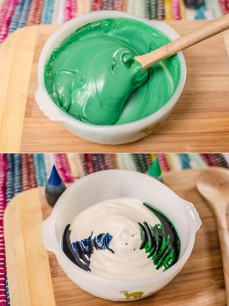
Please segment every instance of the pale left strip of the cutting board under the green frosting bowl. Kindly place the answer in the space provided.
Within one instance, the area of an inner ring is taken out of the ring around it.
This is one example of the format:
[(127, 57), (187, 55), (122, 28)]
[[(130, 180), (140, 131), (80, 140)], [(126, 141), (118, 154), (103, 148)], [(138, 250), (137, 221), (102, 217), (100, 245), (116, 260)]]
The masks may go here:
[(35, 42), (36, 28), (25, 27), (7, 37), (0, 48), (1, 152), (20, 148)]

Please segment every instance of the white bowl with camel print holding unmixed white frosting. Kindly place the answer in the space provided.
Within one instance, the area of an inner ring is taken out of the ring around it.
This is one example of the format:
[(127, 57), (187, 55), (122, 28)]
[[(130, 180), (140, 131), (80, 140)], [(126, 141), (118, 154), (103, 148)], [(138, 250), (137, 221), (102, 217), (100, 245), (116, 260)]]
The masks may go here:
[[(115, 197), (133, 197), (159, 208), (173, 222), (180, 236), (180, 258), (161, 274), (140, 280), (117, 280), (82, 270), (64, 254), (61, 238), (67, 224), (82, 210)], [(188, 260), (201, 221), (193, 204), (179, 198), (152, 177), (128, 170), (105, 170), (87, 175), (72, 184), (58, 199), (53, 212), (42, 225), (45, 247), (55, 253), (68, 277), (82, 289), (104, 299), (122, 300), (120, 291), (143, 291), (146, 297), (168, 284)], [(127, 299), (129, 300), (129, 299)]]

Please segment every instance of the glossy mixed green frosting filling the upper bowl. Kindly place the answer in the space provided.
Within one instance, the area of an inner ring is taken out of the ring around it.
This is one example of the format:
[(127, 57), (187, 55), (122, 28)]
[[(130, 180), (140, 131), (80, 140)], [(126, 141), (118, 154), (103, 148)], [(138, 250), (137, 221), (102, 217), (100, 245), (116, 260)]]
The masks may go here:
[(173, 55), (139, 71), (141, 64), (133, 56), (169, 41), (135, 19), (89, 23), (52, 52), (45, 65), (45, 86), (59, 108), (84, 122), (113, 125), (144, 118), (171, 98), (180, 81), (180, 62)]

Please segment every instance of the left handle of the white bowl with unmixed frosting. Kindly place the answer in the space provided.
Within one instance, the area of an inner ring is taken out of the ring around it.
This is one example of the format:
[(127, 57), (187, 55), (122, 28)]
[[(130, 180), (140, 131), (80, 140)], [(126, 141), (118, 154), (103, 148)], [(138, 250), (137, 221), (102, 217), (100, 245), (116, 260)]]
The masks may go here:
[(44, 246), (47, 250), (55, 253), (57, 250), (57, 238), (55, 235), (55, 230), (52, 227), (52, 223), (51, 216), (44, 220), (42, 223), (41, 232)]

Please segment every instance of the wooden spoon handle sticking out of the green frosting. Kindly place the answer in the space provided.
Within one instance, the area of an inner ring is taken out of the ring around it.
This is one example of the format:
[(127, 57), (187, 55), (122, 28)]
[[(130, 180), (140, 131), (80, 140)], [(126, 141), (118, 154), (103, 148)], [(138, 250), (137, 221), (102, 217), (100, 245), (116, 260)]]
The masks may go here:
[(161, 60), (227, 29), (229, 29), (229, 13), (181, 36), (175, 41), (171, 41), (161, 48), (134, 58), (142, 65), (141, 70), (145, 70)]

